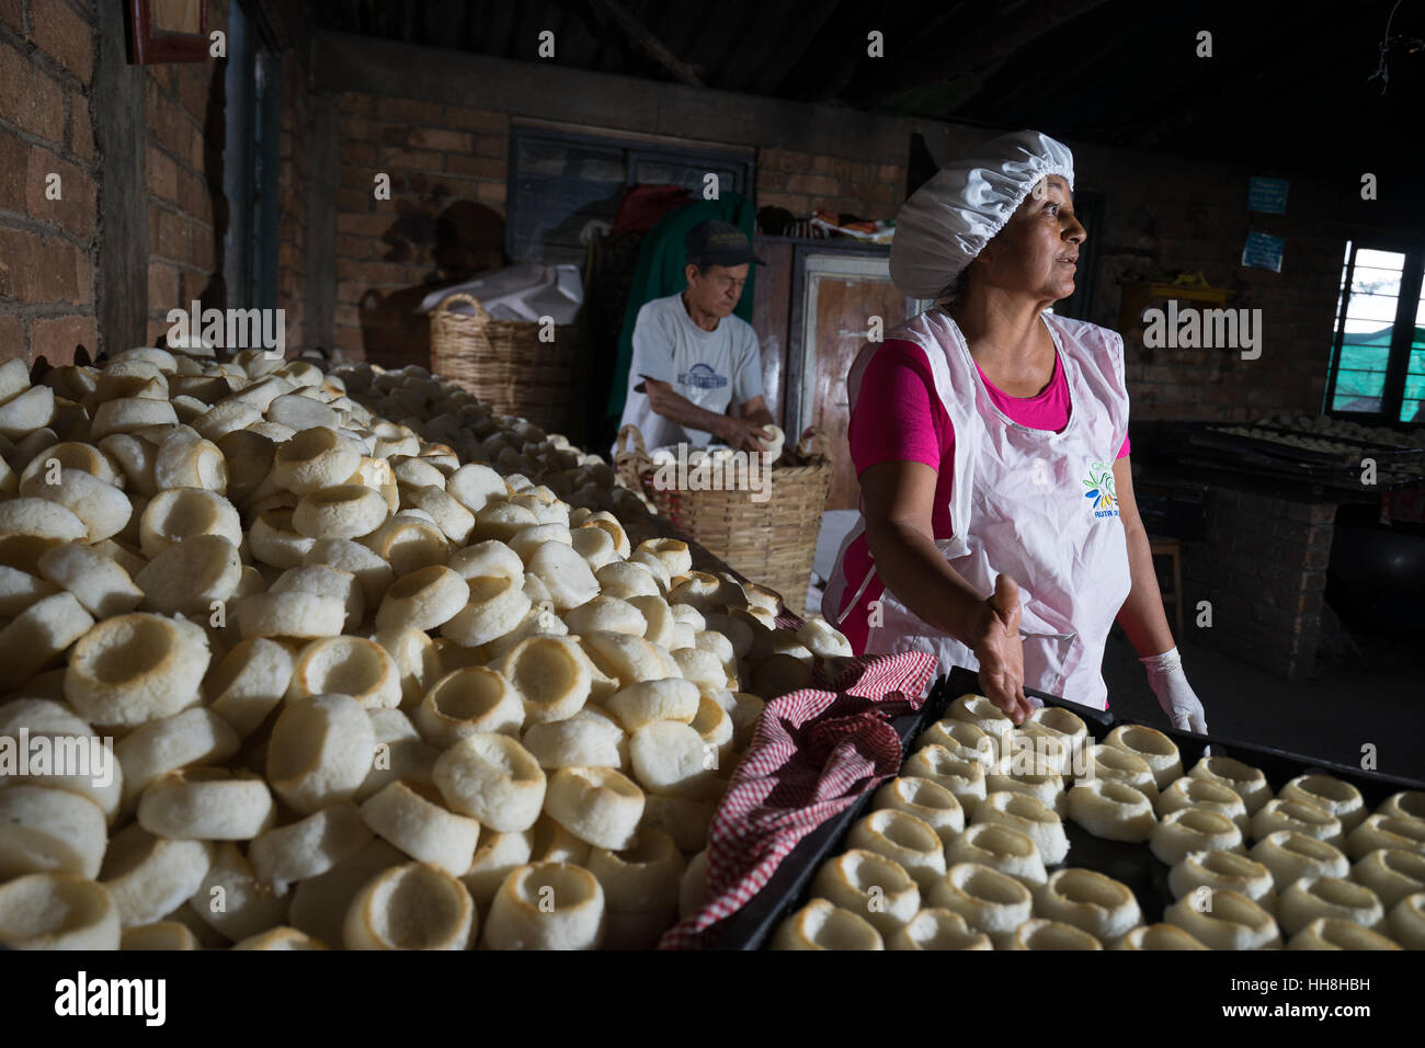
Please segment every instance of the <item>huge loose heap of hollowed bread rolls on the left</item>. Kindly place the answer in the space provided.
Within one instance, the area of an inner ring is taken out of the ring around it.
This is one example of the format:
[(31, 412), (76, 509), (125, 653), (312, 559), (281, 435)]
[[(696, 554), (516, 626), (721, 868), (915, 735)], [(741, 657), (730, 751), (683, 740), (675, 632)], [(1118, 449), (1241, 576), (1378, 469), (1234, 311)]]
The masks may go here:
[(765, 699), (849, 646), (613, 510), (419, 368), (0, 365), (0, 740), (71, 759), (0, 767), (0, 942), (654, 944)]

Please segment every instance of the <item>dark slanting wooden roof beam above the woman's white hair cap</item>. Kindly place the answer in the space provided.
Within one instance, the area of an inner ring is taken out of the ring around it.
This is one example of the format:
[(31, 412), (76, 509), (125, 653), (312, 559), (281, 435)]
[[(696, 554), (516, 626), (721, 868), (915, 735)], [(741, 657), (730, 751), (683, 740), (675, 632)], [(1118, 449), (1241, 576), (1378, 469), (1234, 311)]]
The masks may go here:
[(1102, 3), (1104, 0), (1043, 0), (1012, 13), (996, 13), (966, 31), (955, 31), (952, 23), (963, 24), (966, 19), (952, 11), (919, 34), (921, 40), (932, 41), (932, 50), (896, 56), (893, 63), (861, 63), (849, 84), (848, 101), (875, 103), (983, 68)]

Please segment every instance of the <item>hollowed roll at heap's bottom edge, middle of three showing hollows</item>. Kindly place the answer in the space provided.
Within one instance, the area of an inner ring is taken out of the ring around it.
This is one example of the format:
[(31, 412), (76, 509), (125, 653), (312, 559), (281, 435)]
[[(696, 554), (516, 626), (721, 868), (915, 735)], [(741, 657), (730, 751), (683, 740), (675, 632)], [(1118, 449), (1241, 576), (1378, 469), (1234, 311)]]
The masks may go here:
[(470, 893), (430, 863), (372, 877), (352, 898), (342, 927), (348, 950), (469, 950), (477, 934)]

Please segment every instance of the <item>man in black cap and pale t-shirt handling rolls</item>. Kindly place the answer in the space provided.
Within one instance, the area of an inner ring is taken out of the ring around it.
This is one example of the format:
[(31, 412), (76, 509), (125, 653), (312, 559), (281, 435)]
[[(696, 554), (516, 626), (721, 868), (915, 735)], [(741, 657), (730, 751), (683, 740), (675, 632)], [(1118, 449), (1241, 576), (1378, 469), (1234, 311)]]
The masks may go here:
[(685, 244), (688, 287), (638, 311), (618, 426), (637, 425), (650, 449), (687, 442), (765, 451), (761, 442), (772, 435), (762, 426), (775, 422), (762, 399), (762, 355), (752, 325), (732, 315), (748, 265), (765, 264), (730, 222), (700, 222)]

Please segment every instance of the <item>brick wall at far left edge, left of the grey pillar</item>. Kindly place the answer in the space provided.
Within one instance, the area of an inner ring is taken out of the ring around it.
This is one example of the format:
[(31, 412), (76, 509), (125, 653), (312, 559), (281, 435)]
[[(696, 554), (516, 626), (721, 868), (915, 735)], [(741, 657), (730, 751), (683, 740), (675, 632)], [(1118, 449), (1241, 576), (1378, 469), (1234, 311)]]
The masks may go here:
[(87, 4), (0, 0), (0, 359), (97, 348), (94, 57)]

